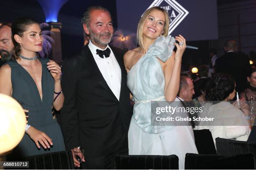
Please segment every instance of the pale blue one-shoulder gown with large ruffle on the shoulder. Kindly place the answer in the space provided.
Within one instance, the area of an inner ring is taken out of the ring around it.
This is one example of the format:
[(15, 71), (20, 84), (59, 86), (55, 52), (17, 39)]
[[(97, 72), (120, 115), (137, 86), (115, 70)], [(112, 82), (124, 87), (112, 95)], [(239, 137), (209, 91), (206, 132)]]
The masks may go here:
[(151, 101), (165, 101), (164, 73), (157, 58), (166, 62), (174, 42), (171, 36), (158, 37), (128, 72), (127, 85), (135, 102), (128, 145), (129, 155), (177, 155), (179, 168), (184, 169), (185, 154), (198, 153), (192, 127), (151, 125)]

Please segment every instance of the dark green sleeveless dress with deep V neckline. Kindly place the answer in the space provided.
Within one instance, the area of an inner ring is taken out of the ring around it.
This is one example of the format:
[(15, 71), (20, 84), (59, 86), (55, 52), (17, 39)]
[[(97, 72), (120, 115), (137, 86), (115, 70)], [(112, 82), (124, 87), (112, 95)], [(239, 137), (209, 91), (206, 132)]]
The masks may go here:
[(38, 88), (33, 78), (16, 60), (7, 62), (11, 67), (12, 97), (17, 100), (26, 113), (28, 124), (46, 133), (53, 142), (50, 149), (36, 147), (34, 141), (25, 133), (19, 145), (11, 155), (26, 157), (65, 150), (61, 128), (53, 115), (54, 79), (47, 68), (48, 59), (38, 58), (42, 64), (42, 93), (41, 100)]

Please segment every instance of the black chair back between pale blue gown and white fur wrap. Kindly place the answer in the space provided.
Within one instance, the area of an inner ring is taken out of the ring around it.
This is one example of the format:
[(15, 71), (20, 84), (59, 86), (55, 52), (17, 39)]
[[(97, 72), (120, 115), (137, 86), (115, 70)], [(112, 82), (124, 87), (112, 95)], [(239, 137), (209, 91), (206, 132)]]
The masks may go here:
[(199, 154), (217, 154), (209, 129), (193, 130), (195, 145)]

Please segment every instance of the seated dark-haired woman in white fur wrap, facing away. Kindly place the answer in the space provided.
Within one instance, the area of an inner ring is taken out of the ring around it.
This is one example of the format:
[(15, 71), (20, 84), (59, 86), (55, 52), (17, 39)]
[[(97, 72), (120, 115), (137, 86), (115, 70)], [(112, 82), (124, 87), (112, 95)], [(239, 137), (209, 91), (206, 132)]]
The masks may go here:
[(218, 73), (208, 82), (205, 90), (206, 102), (200, 117), (214, 117), (213, 121), (198, 122), (195, 130), (209, 129), (215, 143), (215, 138), (225, 138), (246, 141), (251, 132), (249, 123), (243, 112), (232, 105), (236, 94), (236, 84), (233, 77)]

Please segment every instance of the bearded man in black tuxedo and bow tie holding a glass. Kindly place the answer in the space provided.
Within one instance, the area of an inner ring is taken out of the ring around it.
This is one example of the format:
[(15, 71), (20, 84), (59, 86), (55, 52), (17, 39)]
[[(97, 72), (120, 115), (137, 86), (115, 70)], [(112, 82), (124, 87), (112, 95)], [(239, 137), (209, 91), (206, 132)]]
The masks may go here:
[(90, 41), (63, 64), (62, 130), (67, 150), (84, 148), (82, 168), (109, 169), (111, 155), (128, 155), (132, 108), (123, 51), (108, 45), (113, 25), (107, 9), (89, 7), (82, 24)]

